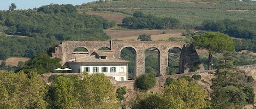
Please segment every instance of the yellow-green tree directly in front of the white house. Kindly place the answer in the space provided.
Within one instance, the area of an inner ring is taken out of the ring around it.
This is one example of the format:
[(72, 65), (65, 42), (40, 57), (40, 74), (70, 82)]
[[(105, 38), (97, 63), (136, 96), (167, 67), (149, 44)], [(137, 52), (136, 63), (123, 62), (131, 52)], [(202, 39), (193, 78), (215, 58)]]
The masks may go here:
[(114, 86), (103, 73), (82, 73), (75, 82), (76, 101), (82, 108), (117, 108)]

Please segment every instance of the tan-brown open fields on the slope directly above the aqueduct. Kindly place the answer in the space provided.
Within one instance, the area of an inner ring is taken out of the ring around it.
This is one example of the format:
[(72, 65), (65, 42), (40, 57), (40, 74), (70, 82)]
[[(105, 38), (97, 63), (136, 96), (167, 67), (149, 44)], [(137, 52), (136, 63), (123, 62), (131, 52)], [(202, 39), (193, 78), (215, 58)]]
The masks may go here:
[[(88, 15), (97, 15), (105, 18), (109, 21), (117, 21), (117, 24), (122, 24), (123, 18), (126, 16), (114, 13), (100, 13), (100, 12), (86, 12)], [(108, 30), (104, 30), (106, 34), (111, 36), (112, 40), (123, 41), (137, 41), (139, 35), (147, 34), (151, 35), (153, 41), (168, 40), (170, 37), (184, 37), (182, 32), (186, 30), (124, 30), (121, 27), (116, 27)], [(165, 32), (165, 34), (162, 34)]]

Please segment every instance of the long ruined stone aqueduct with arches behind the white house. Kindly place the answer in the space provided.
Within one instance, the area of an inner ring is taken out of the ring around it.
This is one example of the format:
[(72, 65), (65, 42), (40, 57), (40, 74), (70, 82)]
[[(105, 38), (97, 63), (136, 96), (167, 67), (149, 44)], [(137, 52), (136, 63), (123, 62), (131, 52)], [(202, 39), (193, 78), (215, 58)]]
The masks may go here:
[[(166, 75), (166, 68), (168, 67), (168, 50), (172, 48), (180, 48), (181, 54), (189, 50), (184, 50), (186, 47), (185, 42), (181, 41), (63, 41), (57, 47), (53, 49), (52, 57), (59, 57), (61, 59), (61, 64), (64, 65), (68, 60), (74, 59), (74, 49), (78, 47), (84, 47), (88, 50), (88, 54), (98, 50), (102, 47), (108, 47), (113, 53), (114, 57), (120, 59), (121, 50), (126, 47), (132, 47), (135, 54), (135, 68), (134, 72), (136, 76), (145, 73), (145, 50), (148, 48), (157, 48), (158, 57), (158, 72), (160, 75)], [(191, 51), (191, 50), (190, 50)], [(196, 54), (197, 53), (192, 53)], [(190, 56), (188, 56), (190, 58)], [(187, 61), (192, 61), (186, 55), (181, 55), (180, 57), (180, 73), (186, 72), (186, 67), (188, 67)], [(198, 57), (199, 58), (199, 57)], [(190, 65), (193, 63), (190, 62)]]

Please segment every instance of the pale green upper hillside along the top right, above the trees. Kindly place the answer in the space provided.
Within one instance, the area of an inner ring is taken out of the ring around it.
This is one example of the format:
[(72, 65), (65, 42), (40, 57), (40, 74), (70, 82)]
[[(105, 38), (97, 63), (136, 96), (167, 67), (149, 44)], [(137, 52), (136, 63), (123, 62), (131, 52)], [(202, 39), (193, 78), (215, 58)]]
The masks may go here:
[(142, 11), (153, 16), (176, 18), (182, 22), (181, 26), (186, 27), (196, 27), (205, 20), (217, 21), (228, 18), (256, 21), (256, 16), (253, 16), (256, 2), (112, 1), (82, 4), (79, 8), (79, 11), (112, 12), (126, 16), (132, 16), (135, 11)]

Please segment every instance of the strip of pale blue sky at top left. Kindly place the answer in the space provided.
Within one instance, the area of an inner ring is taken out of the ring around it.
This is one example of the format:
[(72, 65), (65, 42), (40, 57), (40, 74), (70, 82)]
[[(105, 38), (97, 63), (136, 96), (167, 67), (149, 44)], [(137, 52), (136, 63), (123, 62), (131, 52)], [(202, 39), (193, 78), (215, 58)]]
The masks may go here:
[[(33, 9), (39, 8), (42, 5), (53, 4), (72, 4), (81, 5), (83, 3), (90, 3), (97, 0), (0, 0), (0, 10), (8, 10), (11, 3), (14, 3), (16, 9)], [(15, 10), (16, 10), (15, 9)]]

